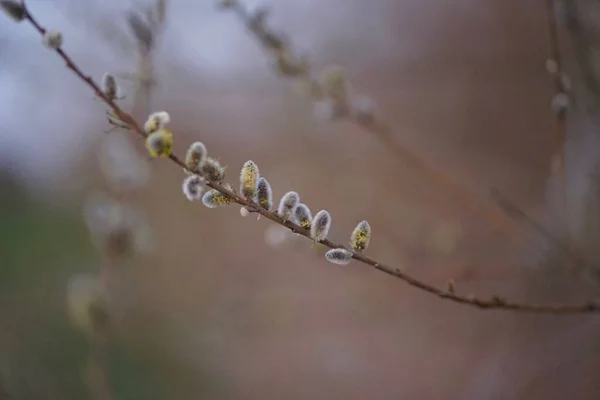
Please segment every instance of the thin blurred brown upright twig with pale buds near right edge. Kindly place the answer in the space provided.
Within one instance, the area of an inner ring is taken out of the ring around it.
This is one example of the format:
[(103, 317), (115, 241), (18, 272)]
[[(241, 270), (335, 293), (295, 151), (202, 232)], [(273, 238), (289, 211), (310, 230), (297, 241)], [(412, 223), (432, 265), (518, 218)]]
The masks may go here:
[[(566, 88), (563, 81), (562, 59), (560, 54), (560, 45), (558, 40), (558, 23), (556, 20), (556, 3), (555, 0), (546, 0), (546, 19), (548, 23), (548, 42), (550, 47), (550, 60), (554, 64), (556, 71), (553, 73), (555, 96), (566, 95)], [(551, 161), (551, 174), (556, 177), (558, 191), (558, 212), (559, 218), (564, 229), (567, 228), (566, 207), (567, 207), (567, 190), (566, 190), (566, 117), (567, 108), (562, 107), (555, 110), (556, 118), (554, 124), (555, 147)]]

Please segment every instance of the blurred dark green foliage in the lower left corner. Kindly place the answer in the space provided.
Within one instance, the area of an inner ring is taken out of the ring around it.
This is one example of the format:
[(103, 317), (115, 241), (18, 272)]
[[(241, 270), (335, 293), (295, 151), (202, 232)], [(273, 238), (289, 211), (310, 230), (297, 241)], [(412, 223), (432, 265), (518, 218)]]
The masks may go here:
[[(0, 181), (0, 194), (0, 394), (90, 398), (82, 379), (87, 339), (65, 308), (69, 276), (97, 265), (81, 215), (35, 201), (9, 180)], [(156, 365), (129, 350), (111, 343), (116, 400), (164, 398)]]

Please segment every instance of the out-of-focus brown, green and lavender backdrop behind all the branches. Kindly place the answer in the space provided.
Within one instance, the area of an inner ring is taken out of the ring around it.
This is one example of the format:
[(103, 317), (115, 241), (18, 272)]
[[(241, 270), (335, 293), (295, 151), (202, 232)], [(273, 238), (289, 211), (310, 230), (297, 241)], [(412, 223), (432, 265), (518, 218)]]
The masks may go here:
[[(28, 3), (94, 78), (136, 69), (125, 12), (143, 2)], [(343, 66), (395, 140), (490, 204), (494, 187), (552, 222), (555, 93), (543, 2), (270, 4), (274, 29), (315, 68)], [(368, 254), (432, 284), (454, 279), (460, 293), (538, 303), (594, 296), (592, 280), (548, 268), (552, 249), (540, 238), (519, 245), (372, 135), (315, 119), (213, 1), (169, 0), (153, 56), (145, 109), (128, 81), (122, 104), (140, 119), (168, 110), (176, 152), (202, 140), (235, 185), (238, 168), (254, 160), (277, 200), (296, 190), (313, 212), (329, 210), (334, 240), (367, 219)], [(90, 193), (110, 189), (98, 158), (110, 137), (105, 108), (26, 24), (0, 19), (0, 61), (0, 389), (17, 399), (88, 398), (86, 339), (65, 304), (69, 276), (100, 265), (82, 210)], [(589, 217), (581, 177), (596, 153), (589, 109), (574, 106), (569, 159), (578, 162), (569, 176), (578, 177), (570, 193), (579, 226)], [(132, 143), (143, 160), (143, 143)], [(241, 218), (237, 206), (187, 201), (172, 163), (148, 168), (149, 184), (125, 196), (148, 215), (155, 251), (124, 266), (129, 300), (110, 347), (115, 398), (597, 398), (597, 318), (482, 312), (358, 263), (328, 264), (309, 241), (279, 243), (268, 221)]]

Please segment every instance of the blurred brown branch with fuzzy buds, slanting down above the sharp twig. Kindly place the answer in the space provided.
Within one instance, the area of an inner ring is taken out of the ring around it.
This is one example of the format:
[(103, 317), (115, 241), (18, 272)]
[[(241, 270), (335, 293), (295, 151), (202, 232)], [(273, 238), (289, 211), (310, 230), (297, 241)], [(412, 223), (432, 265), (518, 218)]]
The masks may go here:
[(314, 102), (318, 114), (332, 120), (344, 118), (359, 126), (364, 132), (385, 144), (400, 160), (425, 175), (431, 183), (474, 209), (494, 228), (504, 231), (518, 242), (525, 241), (525, 231), (502, 210), (399, 143), (394, 138), (392, 129), (377, 118), (375, 103), (369, 98), (353, 93), (342, 73), (336, 71), (337, 68), (326, 69), (321, 80), (316, 78), (308, 58), (305, 55), (297, 55), (284, 35), (266, 25), (268, 8), (263, 7), (250, 12), (238, 0), (221, 0), (219, 5), (221, 9), (232, 10), (242, 20), (273, 57), (274, 67), (281, 76), (304, 84), (307, 97)]

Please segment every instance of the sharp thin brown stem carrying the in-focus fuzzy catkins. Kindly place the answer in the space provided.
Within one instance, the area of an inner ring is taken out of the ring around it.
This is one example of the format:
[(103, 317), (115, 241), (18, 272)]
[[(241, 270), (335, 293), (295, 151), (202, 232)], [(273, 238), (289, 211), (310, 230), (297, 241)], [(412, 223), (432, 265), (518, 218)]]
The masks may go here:
[[(31, 13), (28, 10), (26, 11), (26, 20), (29, 21), (41, 35), (45, 34), (46, 30), (35, 20), (35, 18), (31, 15)], [(146, 133), (144, 132), (143, 129), (140, 128), (140, 125), (135, 121), (135, 119), (130, 114), (123, 111), (117, 104), (115, 104), (114, 101), (109, 99), (102, 92), (102, 90), (100, 89), (98, 84), (96, 84), (91, 77), (85, 75), (76, 66), (76, 64), (73, 62), (73, 60), (62, 49), (58, 48), (56, 50), (56, 53), (64, 60), (68, 69), (72, 70), (80, 79), (82, 79), (95, 92), (95, 94), (99, 98), (101, 98), (114, 111), (116, 116), (118, 116), (123, 122), (127, 123), (130, 126), (130, 130), (133, 133), (135, 133), (143, 138), (146, 138), (146, 136), (147, 136)], [(176, 165), (187, 170), (186, 164), (179, 157), (171, 154), (169, 156), (169, 158)], [(190, 171), (190, 172), (192, 172), (192, 171)], [(239, 196), (238, 194), (232, 192), (231, 190), (228, 190), (227, 188), (223, 187), (220, 184), (217, 184), (214, 182), (207, 182), (207, 185), (210, 188), (215, 189), (215, 190), (219, 191), (220, 193), (230, 197), (235, 203), (245, 206), (251, 212), (256, 212), (256, 213), (262, 215), (263, 217), (269, 219), (270, 221), (273, 221), (279, 225), (285, 226), (286, 228), (290, 229), (292, 232), (302, 235), (302, 236), (312, 240), (312, 238), (310, 236), (310, 232), (308, 230), (296, 225), (295, 223), (293, 223), (291, 221), (283, 220), (276, 213), (263, 209), (262, 207), (258, 206), (256, 203), (254, 203), (253, 201), (247, 200), (246, 198)], [(335, 243), (328, 239), (322, 240), (319, 243), (323, 244), (324, 246), (326, 246), (330, 249), (345, 248), (345, 249), (349, 250), (346, 246)], [(415, 279), (412, 276), (402, 272), (399, 268), (395, 268), (395, 267), (380, 263), (379, 261), (376, 261), (362, 253), (352, 251), (352, 258), (354, 258), (355, 260), (360, 261), (361, 263), (366, 264), (372, 268), (382, 271), (388, 275), (399, 278), (414, 288), (417, 288), (419, 290), (433, 294), (435, 296), (438, 296), (439, 298), (446, 299), (448, 301), (452, 301), (454, 303), (464, 304), (464, 305), (479, 308), (479, 309), (512, 310), (512, 311), (518, 311), (518, 312), (547, 313), (547, 314), (557, 314), (557, 315), (558, 314), (564, 315), (564, 314), (581, 314), (581, 313), (600, 312), (600, 302), (597, 302), (597, 301), (587, 301), (585, 303), (575, 304), (575, 305), (563, 305), (563, 304), (538, 305), (538, 304), (513, 302), (513, 301), (506, 300), (500, 296), (492, 296), (490, 299), (477, 298), (477, 297), (471, 296), (471, 295), (461, 296), (461, 295), (455, 294), (454, 290), (442, 290), (442, 289), (433, 287), (425, 282)]]

